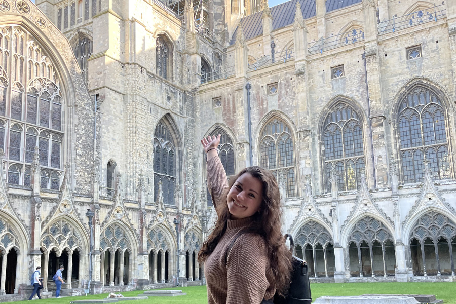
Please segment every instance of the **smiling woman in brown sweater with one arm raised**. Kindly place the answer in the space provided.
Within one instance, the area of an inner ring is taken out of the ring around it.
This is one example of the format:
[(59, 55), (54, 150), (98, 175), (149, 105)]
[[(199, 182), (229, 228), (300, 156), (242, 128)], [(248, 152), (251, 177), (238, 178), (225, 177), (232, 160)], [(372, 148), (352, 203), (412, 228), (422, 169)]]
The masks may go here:
[(279, 186), (271, 171), (248, 167), (228, 182), (218, 155), (220, 135), (201, 140), (207, 185), (218, 220), (198, 254), (209, 304), (272, 303), (287, 294), (291, 252), (281, 234)]

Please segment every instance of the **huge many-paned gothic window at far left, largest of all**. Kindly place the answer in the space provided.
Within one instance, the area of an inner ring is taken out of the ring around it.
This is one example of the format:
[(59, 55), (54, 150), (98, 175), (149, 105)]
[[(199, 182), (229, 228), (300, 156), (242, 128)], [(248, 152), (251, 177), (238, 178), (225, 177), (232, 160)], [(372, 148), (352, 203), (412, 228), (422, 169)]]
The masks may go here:
[(10, 184), (30, 186), (36, 147), (42, 187), (60, 188), (62, 103), (55, 66), (38, 40), (21, 27), (0, 27), (0, 148)]

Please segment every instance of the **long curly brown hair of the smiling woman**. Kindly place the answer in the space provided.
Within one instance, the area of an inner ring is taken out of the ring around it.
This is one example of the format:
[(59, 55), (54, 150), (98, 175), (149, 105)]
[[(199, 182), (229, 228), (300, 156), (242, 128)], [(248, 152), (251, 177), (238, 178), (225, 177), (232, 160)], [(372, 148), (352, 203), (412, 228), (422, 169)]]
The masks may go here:
[(230, 219), (226, 197), (236, 180), (244, 173), (250, 173), (263, 185), (260, 209), (252, 215), (252, 222), (244, 233), (256, 233), (263, 237), (270, 260), (270, 269), (275, 278), (276, 290), (280, 295), (285, 295), (290, 284), (291, 252), (286, 247), (281, 233), (282, 207), (279, 186), (274, 175), (264, 168), (248, 167), (230, 179), (222, 203), (217, 206), (218, 220), (215, 222), (215, 228), (203, 243), (198, 254), (198, 261), (204, 262), (225, 234), (227, 221)]

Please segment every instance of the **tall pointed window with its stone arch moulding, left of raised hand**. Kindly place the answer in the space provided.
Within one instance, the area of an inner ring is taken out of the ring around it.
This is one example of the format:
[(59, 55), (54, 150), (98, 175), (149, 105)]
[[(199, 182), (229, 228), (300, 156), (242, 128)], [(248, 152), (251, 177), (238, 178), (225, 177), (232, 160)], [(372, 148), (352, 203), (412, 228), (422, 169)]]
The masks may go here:
[(154, 128), (154, 201), (162, 185), (163, 202), (175, 205), (175, 189), (182, 180), (181, 136), (172, 117), (163, 116)]

